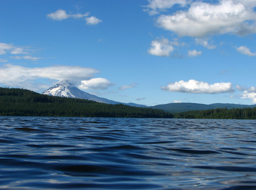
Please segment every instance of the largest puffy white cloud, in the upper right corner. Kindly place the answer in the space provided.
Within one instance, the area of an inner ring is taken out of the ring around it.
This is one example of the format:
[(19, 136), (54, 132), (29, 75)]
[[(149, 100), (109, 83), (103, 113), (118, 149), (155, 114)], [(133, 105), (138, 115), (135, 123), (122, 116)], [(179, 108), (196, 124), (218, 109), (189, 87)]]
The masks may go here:
[(179, 36), (203, 37), (207, 34), (256, 33), (255, 20), (252, 7), (232, 0), (220, 0), (219, 4), (193, 2), (188, 11), (161, 15), (156, 23)]

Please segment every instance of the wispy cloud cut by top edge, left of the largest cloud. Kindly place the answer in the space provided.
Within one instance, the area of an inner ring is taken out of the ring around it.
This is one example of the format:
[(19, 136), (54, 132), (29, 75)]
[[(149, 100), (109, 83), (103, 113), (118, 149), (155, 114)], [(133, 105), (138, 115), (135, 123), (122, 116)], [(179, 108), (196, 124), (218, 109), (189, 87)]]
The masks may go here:
[(149, 4), (144, 6), (148, 9), (143, 11), (147, 11), (149, 15), (158, 14), (159, 11), (165, 11), (165, 9), (169, 9), (175, 4), (180, 4), (181, 6), (187, 4), (187, 0), (148, 0), (148, 2)]

